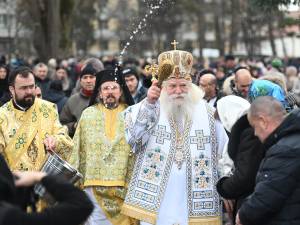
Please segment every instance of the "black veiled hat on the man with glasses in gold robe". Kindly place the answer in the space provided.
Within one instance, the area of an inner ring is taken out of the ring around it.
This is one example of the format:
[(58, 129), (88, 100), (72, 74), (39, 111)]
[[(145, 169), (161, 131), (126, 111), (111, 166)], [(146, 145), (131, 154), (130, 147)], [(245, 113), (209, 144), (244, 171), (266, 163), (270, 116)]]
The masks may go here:
[(122, 70), (120, 67), (116, 67), (116, 69), (106, 69), (96, 73), (96, 84), (93, 91), (93, 95), (91, 96), (89, 106), (94, 105), (96, 103), (96, 99), (99, 93), (99, 87), (107, 81), (114, 81), (118, 83), (123, 91), (123, 96), (125, 98), (125, 103), (127, 105), (134, 105), (133, 98), (128, 90), (128, 87), (125, 83), (124, 77), (122, 76)]

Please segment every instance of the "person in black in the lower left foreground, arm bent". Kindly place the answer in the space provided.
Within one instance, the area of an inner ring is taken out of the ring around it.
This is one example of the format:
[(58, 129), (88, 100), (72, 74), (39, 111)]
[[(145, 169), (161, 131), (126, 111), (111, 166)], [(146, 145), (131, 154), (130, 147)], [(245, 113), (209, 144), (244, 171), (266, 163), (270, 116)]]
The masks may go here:
[[(14, 175), (16, 180), (0, 154), (0, 225), (79, 225), (93, 210), (83, 191), (58, 176), (48, 176), (43, 172), (17, 172)], [(20, 201), (26, 196), (22, 196), (18, 189), (39, 182), (57, 204), (41, 213), (26, 213), (25, 202)]]

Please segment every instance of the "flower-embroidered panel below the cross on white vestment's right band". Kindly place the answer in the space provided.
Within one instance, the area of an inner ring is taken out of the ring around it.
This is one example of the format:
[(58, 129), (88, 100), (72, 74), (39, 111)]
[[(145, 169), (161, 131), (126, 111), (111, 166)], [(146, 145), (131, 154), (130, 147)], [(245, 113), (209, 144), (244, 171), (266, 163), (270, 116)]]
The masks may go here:
[(210, 160), (203, 154), (193, 160), (195, 171), (194, 186), (195, 188), (208, 188), (211, 184), (209, 173)]

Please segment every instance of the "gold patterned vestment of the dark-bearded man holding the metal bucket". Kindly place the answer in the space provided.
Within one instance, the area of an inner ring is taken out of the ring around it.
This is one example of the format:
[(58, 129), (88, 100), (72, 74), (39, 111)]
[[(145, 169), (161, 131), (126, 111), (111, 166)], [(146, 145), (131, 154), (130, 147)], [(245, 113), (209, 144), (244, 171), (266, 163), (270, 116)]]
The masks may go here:
[(12, 101), (0, 108), (0, 152), (11, 170), (40, 170), (46, 159), (43, 142), (48, 136), (56, 141), (55, 151), (67, 158), (73, 147), (67, 133), (50, 102), (35, 99), (27, 111), (16, 109)]

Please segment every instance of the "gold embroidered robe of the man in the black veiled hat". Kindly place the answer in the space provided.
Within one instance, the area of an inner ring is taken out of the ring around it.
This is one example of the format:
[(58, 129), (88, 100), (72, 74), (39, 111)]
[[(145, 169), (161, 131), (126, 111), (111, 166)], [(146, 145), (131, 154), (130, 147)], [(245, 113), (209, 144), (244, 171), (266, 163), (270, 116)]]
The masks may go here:
[(135, 224), (120, 214), (133, 166), (131, 148), (125, 140), (124, 109), (125, 105), (110, 110), (102, 104), (85, 109), (69, 160), (82, 173), (82, 186), (93, 188), (99, 206), (114, 225)]

